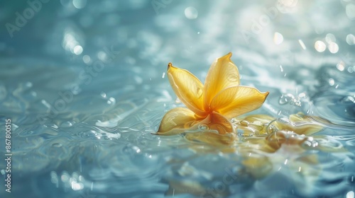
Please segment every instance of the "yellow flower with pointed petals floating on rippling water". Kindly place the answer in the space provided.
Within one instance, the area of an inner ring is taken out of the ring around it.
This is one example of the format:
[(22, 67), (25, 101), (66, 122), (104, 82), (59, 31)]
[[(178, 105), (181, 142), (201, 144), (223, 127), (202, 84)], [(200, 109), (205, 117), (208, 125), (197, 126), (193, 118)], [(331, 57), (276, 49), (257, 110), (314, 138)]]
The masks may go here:
[(168, 64), (170, 84), (188, 109), (177, 107), (167, 112), (156, 134), (194, 131), (234, 134), (235, 129), (229, 120), (261, 107), (268, 92), (240, 86), (239, 71), (230, 58), (231, 53), (212, 64), (204, 85), (189, 71)]

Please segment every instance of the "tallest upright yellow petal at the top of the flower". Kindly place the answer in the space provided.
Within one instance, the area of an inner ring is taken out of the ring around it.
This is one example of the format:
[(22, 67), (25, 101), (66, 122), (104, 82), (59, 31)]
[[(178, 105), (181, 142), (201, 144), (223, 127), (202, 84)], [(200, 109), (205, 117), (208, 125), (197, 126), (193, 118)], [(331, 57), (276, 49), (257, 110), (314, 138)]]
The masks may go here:
[(231, 62), (231, 52), (229, 52), (217, 59), (209, 68), (204, 81), (204, 110), (208, 110), (209, 103), (217, 93), (231, 86), (239, 86), (239, 71)]

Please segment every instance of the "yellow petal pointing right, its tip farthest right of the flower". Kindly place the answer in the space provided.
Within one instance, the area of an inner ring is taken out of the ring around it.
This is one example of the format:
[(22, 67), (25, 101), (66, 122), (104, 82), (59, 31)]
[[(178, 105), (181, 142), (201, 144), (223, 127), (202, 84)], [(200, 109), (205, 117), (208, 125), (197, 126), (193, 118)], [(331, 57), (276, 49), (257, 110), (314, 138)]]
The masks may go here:
[(210, 104), (211, 110), (231, 119), (263, 105), (268, 92), (261, 93), (256, 88), (234, 86), (218, 93)]

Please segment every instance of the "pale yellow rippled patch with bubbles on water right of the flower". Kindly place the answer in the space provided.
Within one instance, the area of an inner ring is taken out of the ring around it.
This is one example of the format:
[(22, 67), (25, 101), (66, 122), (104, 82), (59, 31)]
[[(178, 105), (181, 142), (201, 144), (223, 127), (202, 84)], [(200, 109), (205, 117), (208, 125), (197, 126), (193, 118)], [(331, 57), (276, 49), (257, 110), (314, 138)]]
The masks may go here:
[(275, 119), (268, 115), (249, 115), (243, 119), (236, 119), (236, 127), (243, 131), (243, 142), (249, 146), (256, 146), (258, 151), (274, 153), (281, 146), (293, 146), (293, 151), (305, 149), (319, 149), (322, 151), (345, 151), (342, 146), (332, 148), (324, 143), (325, 136), (311, 136), (323, 129), (322, 124), (311, 117), (297, 113), (289, 119)]

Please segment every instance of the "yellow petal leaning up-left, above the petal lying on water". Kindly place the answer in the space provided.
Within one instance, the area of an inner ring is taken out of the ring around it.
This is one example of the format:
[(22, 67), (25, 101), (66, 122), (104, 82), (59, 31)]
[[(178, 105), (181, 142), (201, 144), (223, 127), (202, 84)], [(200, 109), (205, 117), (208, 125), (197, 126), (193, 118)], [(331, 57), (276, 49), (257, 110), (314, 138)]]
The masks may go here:
[(203, 84), (190, 71), (168, 64), (168, 78), (175, 94), (187, 108), (203, 117)]

